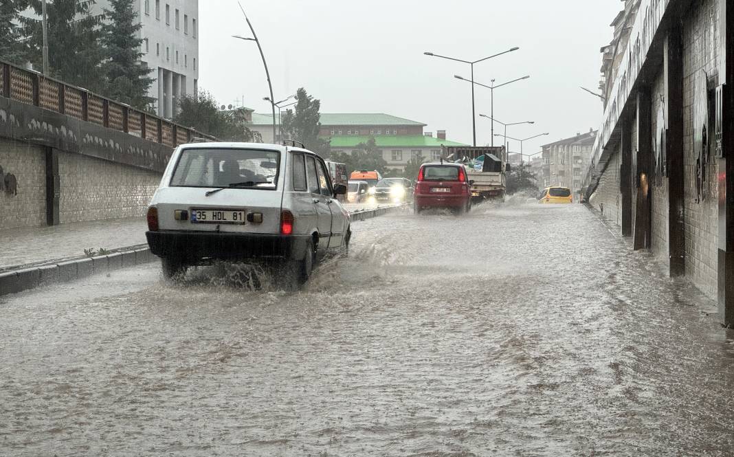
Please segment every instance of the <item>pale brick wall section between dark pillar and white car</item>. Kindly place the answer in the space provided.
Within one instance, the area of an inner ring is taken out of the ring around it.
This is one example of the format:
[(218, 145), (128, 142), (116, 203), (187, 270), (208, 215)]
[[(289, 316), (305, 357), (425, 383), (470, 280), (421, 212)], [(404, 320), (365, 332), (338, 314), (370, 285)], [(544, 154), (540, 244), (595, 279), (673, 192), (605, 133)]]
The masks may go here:
[(64, 224), (144, 216), (161, 175), (79, 154), (59, 153), (59, 179), (59, 219)]

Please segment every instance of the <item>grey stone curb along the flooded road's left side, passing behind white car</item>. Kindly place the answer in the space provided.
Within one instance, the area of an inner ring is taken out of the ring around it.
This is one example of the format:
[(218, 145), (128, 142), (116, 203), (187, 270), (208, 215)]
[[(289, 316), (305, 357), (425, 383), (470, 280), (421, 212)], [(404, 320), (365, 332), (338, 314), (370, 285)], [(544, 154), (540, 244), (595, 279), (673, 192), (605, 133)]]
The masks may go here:
[[(383, 214), (392, 213), (405, 208), (406, 205), (388, 206), (374, 210), (355, 211), (349, 213), (352, 222), (366, 221)], [(76, 279), (90, 277), (93, 274), (106, 273), (132, 266), (143, 265), (158, 260), (145, 245), (128, 246), (115, 249), (109, 255), (84, 257), (74, 260), (60, 261), (33, 266), (21, 266), (18, 269), (0, 272), (0, 296), (19, 293), (23, 290), (37, 288), (42, 285), (71, 282)]]

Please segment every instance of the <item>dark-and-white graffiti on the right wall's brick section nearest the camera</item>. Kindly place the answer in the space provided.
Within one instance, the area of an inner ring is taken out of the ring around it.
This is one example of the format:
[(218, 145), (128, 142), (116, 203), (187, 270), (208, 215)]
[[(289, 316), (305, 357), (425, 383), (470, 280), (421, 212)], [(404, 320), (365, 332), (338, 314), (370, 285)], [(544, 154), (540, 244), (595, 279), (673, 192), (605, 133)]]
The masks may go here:
[(706, 170), (711, 160), (708, 124), (708, 75), (700, 71), (694, 84), (693, 150), (696, 157), (696, 202), (706, 199)]

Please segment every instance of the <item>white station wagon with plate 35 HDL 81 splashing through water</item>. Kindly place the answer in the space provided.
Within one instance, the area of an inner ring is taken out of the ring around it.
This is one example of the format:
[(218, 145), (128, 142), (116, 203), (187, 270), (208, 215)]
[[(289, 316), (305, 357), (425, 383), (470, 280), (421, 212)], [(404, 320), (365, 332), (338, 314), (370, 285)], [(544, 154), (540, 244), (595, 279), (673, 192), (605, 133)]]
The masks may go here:
[(173, 153), (148, 208), (165, 277), (211, 260), (258, 260), (305, 282), (319, 254), (346, 250), (349, 213), (324, 160), (261, 143), (196, 143)]

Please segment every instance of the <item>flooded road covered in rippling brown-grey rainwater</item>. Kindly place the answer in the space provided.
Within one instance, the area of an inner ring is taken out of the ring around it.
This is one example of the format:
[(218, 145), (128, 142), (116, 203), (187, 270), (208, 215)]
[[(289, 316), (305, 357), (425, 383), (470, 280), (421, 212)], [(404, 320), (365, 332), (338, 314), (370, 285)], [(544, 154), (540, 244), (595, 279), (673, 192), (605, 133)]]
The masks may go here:
[(0, 298), (0, 454), (734, 455), (734, 335), (581, 205), (354, 232), (298, 293), (150, 265)]

